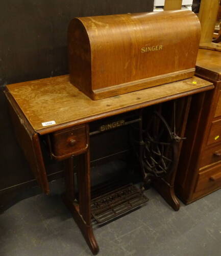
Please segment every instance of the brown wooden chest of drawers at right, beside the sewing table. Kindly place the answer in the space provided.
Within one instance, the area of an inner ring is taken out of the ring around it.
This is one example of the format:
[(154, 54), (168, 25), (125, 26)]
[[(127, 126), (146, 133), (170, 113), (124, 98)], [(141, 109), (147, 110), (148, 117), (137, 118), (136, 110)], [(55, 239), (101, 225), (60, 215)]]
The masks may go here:
[(213, 82), (215, 90), (191, 103), (176, 177), (177, 194), (185, 203), (221, 188), (221, 53), (200, 49), (196, 74)]

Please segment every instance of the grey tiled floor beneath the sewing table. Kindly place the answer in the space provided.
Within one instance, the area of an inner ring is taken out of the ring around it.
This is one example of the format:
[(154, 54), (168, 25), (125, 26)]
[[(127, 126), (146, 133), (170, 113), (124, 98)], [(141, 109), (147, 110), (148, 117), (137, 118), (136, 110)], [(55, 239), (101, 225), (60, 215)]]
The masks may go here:
[[(56, 187), (56, 182), (55, 185)], [(221, 255), (221, 190), (175, 212), (150, 189), (150, 201), (95, 229), (100, 256)], [(0, 215), (1, 256), (92, 255), (59, 193), (25, 199)]]

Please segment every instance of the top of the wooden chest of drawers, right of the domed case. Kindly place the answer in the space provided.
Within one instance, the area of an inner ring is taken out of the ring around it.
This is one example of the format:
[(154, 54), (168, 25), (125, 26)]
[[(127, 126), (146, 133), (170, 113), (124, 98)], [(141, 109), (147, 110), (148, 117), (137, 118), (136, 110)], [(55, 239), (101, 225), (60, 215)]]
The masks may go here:
[(221, 80), (221, 52), (199, 49), (196, 73), (215, 81)]

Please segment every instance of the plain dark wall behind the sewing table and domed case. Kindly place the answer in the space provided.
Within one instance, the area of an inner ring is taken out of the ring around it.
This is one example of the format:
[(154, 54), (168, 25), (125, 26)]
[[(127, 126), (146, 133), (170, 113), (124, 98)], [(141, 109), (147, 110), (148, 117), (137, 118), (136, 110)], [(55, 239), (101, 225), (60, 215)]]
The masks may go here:
[[(3, 0), (0, 3), (0, 207), (18, 188), (35, 184), (7, 111), (6, 84), (68, 74), (66, 34), (71, 18), (146, 12), (154, 0)], [(61, 166), (48, 161), (56, 178)], [(7, 195), (7, 196), (6, 196)], [(11, 199), (10, 199), (11, 200)]]

